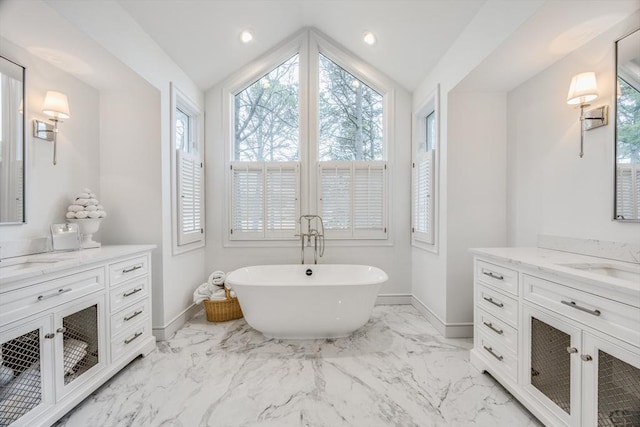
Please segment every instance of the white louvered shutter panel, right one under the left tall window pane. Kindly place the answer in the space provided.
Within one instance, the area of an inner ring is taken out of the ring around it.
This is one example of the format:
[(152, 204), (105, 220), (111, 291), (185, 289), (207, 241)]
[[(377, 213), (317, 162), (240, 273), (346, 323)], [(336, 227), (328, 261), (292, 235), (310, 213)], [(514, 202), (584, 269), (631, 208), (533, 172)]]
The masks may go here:
[(297, 163), (275, 163), (265, 168), (265, 237), (294, 237), (300, 217), (300, 167)]

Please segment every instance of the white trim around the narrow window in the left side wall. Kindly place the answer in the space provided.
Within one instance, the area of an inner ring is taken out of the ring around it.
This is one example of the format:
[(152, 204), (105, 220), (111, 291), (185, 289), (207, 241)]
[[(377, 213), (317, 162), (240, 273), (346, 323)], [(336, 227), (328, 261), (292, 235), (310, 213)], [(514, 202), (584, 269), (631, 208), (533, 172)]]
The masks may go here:
[[(171, 149), (171, 234), (172, 234), (172, 252), (173, 255), (179, 255), (185, 252), (203, 248), (206, 242), (205, 235), (205, 179), (204, 179), (204, 120), (202, 110), (190, 100), (182, 91), (180, 91), (174, 83), (170, 83), (170, 143)], [(193, 135), (198, 147), (197, 156), (203, 164), (202, 173), (200, 175), (200, 224), (202, 225), (202, 233), (200, 237), (190, 238), (188, 243), (179, 244), (180, 232), (180, 203), (178, 202), (179, 191), (179, 170), (178, 170), (178, 154), (176, 146), (176, 115), (175, 111), (180, 108), (193, 118)]]

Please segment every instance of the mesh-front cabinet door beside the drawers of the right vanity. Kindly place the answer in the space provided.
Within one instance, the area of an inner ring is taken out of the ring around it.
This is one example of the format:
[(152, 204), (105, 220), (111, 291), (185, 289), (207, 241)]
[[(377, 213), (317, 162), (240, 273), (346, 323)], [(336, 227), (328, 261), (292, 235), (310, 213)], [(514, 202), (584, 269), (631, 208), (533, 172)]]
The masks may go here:
[(580, 425), (581, 331), (538, 308), (523, 310), (524, 389), (560, 422)]

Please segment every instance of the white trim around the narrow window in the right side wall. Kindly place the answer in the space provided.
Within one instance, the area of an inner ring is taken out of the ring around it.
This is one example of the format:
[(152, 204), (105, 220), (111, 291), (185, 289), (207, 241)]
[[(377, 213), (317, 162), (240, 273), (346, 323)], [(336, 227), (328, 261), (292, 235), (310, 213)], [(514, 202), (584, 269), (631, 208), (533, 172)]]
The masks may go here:
[[(431, 155), (432, 159), (432, 193), (431, 193), (431, 211), (432, 211), (432, 236), (422, 236), (423, 233), (414, 232), (414, 203), (416, 203), (414, 197), (414, 174), (416, 173), (416, 168), (412, 167), (411, 169), (411, 246), (419, 249), (423, 249), (429, 252), (438, 253), (439, 251), (439, 210), (440, 210), (440, 85), (436, 85), (436, 88), (431, 92), (426, 100), (422, 103), (420, 107), (418, 107), (413, 113), (413, 135), (412, 135), (412, 144), (411, 144), (411, 163), (412, 165), (417, 165), (419, 162), (418, 158), (418, 147), (420, 145), (420, 139), (424, 137), (426, 133), (426, 122), (425, 118), (431, 114), (435, 113), (435, 138), (434, 138), (434, 146), (433, 153), (427, 153), (426, 155)], [(431, 242), (432, 243), (431, 243)]]

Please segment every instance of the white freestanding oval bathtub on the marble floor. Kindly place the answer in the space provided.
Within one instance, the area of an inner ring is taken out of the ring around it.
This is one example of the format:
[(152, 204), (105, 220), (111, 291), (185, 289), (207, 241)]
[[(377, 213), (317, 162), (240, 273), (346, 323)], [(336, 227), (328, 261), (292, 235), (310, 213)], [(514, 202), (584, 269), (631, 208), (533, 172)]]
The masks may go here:
[(244, 267), (227, 275), (247, 323), (269, 338), (345, 337), (371, 316), (380, 286), (376, 267), (293, 264)]

